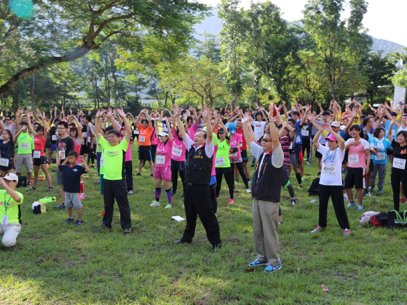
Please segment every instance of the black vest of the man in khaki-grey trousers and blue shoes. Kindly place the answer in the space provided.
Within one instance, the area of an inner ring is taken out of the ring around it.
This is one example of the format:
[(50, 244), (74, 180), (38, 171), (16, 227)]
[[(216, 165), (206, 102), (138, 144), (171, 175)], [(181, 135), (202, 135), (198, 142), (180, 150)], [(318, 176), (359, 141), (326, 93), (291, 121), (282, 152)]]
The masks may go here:
[[(251, 195), (254, 199), (258, 200), (280, 202), (283, 167), (274, 167), (271, 163), (272, 155), (263, 153), (258, 158), (252, 179)], [(259, 168), (263, 158), (263, 164)], [(258, 171), (260, 171), (259, 178), (257, 178)]]

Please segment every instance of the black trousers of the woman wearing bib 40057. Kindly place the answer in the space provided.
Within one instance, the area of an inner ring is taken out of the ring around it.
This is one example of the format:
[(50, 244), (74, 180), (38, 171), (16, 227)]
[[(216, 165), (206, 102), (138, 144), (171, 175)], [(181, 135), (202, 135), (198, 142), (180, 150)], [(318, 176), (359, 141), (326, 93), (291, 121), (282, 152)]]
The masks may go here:
[(319, 226), (327, 226), (329, 197), (332, 199), (332, 204), (334, 205), (335, 215), (339, 226), (343, 230), (350, 229), (349, 221), (347, 220), (345, 203), (343, 202), (342, 186), (324, 186), (321, 184), (319, 185)]

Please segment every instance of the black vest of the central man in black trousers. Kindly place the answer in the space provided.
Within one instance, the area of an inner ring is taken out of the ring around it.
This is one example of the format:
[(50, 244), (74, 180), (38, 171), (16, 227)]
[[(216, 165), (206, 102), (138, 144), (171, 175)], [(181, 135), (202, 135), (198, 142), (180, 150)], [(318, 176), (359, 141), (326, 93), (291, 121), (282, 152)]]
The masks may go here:
[(211, 182), (213, 156), (208, 158), (205, 145), (196, 149), (192, 146), (187, 152), (185, 182), (206, 184)]

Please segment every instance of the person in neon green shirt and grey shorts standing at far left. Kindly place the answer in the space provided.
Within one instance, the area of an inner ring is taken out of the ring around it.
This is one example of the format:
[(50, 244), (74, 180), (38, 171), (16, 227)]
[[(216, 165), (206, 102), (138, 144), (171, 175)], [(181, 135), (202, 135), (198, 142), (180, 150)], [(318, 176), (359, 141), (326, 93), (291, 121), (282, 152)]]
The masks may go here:
[(28, 124), (21, 122), (21, 130), (14, 136), (13, 142), (18, 143), (18, 153), (16, 159), (16, 174), (21, 176), (22, 168), (25, 165), (27, 170), (27, 185), (31, 186), (33, 172), (33, 156), (31, 147), (33, 138), (28, 134)]

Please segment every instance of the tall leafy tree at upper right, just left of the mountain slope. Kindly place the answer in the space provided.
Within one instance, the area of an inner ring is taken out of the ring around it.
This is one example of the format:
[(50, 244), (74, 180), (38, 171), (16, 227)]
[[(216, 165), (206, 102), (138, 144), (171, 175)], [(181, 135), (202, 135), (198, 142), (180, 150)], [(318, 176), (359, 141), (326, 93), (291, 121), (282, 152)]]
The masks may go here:
[[(347, 19), (341, 15), (343, 3), (344, 0), (308, 0), (303, 11), (305, 31), (315, 42), (315, 54), (325, 66), (333, 100), (338, 100), (344, 87), (348, 91), (349, 87), (355, 86), (356, 90), (359, 86), (358, 66), (372, 45), (372, 39), (362, 25), (367, 12), (365, 0), (350, 0)], [(353, 83), (352, 79), (357, 82)]]

